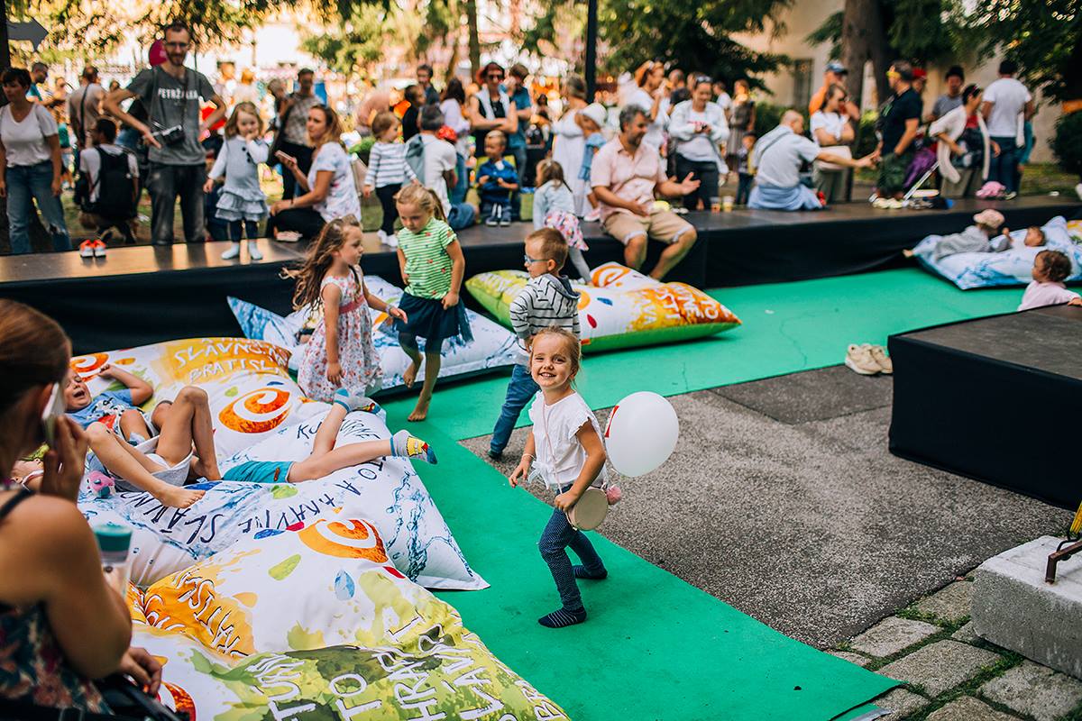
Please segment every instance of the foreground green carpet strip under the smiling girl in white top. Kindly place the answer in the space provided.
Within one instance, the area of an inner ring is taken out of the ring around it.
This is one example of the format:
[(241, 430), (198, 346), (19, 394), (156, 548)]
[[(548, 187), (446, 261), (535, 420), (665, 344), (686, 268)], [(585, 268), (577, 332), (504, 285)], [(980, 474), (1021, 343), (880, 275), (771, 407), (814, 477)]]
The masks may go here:
[[(597, 534), (609, 577), (581, 582), (590, 619), (551, 630), (559, 605), (537, 550), (552, 509), (443, 433), (415, 464), (470, 563), (491, 584), (439, 596), (496, 655), (577, 721), (820, 719), (895, 683), (797, 643)], [(723, 563), (724, 559), (718, 559)]]

